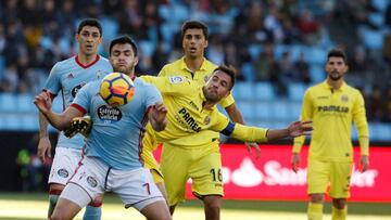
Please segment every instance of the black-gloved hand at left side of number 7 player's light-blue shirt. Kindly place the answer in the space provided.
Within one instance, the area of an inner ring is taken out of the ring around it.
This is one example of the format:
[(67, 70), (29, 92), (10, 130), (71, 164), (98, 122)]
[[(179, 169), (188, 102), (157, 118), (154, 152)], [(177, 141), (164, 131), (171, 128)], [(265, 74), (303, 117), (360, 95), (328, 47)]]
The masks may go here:
[(64, 130), (64, 135), (72, 138), (76, 133), (81, 133), (84, 137), (88, 137), (91, 132), (92, 121), (90, 116), (75, 117), (72, 119), (71, 126)]

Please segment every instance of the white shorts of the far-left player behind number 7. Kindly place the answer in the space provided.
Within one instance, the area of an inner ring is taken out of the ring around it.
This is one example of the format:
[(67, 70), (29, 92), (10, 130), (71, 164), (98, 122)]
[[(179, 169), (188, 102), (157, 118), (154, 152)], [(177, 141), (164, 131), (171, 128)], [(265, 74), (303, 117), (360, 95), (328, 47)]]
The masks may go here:
[(48, 183), (66, 185), (83, 158), (83, 151), (68, 147), (55, 147), (55, 155)]

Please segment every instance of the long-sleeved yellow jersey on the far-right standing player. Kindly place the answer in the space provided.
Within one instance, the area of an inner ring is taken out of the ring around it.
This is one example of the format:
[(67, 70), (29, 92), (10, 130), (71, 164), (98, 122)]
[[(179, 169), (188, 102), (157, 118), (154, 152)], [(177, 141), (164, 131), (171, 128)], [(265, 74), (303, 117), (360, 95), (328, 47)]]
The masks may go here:
[[(361, 92), (345, 82), (333, 90), (327, 81), (308, 88), (304, 94), (301, 120), (313, 121), (310, 159), (352, 161), (352, 122), (358, 131), (361, 154), (368, 155), (369, 134), (365, 104)], [(294, 139), (299, 153), (305, 137)]]

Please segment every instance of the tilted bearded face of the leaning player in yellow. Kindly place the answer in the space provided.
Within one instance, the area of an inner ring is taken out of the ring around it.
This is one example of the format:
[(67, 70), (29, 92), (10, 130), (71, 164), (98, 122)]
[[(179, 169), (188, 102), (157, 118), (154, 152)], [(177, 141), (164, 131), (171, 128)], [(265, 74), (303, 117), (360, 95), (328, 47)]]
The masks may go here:
[(230, 93), (231, 78), (222, 70), (215, 72), (206, 81), (204, 95), (206, 100), (219, 102)]

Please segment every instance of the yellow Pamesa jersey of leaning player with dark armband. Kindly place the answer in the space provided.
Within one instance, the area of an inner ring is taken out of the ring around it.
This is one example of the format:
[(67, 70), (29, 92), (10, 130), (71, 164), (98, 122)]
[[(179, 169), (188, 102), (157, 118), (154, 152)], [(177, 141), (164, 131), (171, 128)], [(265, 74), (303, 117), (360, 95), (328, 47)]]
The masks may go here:
[(234, 124), (216, 107), (204, 108), (203, 86), (193, 80), (181, 76), (140, 78), (160, 90), (167, 107), (168, 124), (163, 131), (155, 132), (157, 142), (172, 143), (204, 130), (222, 132), (240, 141), (267, 141), (267, 129)]

